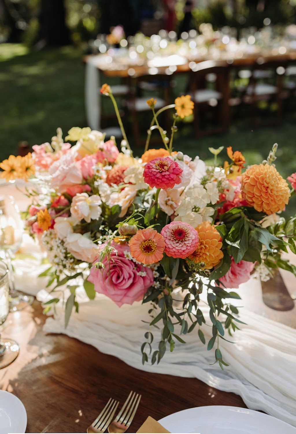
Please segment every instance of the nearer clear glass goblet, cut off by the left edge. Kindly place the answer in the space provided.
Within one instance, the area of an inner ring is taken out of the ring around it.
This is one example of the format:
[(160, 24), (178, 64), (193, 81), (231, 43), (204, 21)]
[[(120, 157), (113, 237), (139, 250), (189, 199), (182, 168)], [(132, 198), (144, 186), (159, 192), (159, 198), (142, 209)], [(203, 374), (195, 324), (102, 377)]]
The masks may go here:
[[(9, 281), (7, 265), (0, 261), (0, 327), (9, 313)], [(10, 365), (19, 355), (20, 347), (13, 339), (0, 335), (0, 369)]]

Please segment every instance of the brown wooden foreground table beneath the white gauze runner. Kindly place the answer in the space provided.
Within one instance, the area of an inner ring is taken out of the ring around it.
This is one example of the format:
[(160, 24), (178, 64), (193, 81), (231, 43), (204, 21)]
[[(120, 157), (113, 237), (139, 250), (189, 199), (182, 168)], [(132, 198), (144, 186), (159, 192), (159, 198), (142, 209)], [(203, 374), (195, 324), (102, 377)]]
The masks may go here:
[[(0, 193), (20, 194), (13, 186)], [(23, 203), (22, 203), (23, 204)], [(296, 278), (283, 273), (292, 293)], [(296, 308), (281, 312), (262, 299), (244, 299), (245, 306), (267, 318), (296, 328)], [(108, 398), (123, 404), (130, 390), (142, 395), (128, 432), (136, 432), (150, 415), (156, 420), (186, 408), (229, 405), (245, 408), (234, 393), (216, 390), (195, 378), (148, 373), (91, 345), (66, 335), (45, 334), (46, 317), (38, 301), (23, 311), (10, 313), (3, 336), (20, 344), (20, 355), (0, 370), (0, 388), (16, 395), (27, 412), (27, 433), (83, 433)]]

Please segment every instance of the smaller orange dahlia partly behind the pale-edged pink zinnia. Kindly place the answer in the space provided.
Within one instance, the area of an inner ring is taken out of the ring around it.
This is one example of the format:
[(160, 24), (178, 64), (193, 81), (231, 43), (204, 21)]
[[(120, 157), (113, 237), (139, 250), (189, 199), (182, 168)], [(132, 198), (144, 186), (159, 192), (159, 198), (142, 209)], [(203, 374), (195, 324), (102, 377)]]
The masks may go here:
[(195, 263), (204, 262), (204, 268), (211, 270), (223, 258), (221, 235), (209, 221), (202, 222), (195, 229), (198, 233), (199, 243), (189, 259)]

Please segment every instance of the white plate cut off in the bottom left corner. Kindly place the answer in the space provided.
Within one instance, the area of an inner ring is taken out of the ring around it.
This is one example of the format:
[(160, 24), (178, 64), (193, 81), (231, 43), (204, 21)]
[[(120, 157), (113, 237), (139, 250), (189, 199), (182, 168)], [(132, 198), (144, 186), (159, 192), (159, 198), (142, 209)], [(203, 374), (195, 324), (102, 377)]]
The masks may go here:
[(24, 433), (27, 426), (27, 413), (15, 395), (0, 390), (0, 434)]

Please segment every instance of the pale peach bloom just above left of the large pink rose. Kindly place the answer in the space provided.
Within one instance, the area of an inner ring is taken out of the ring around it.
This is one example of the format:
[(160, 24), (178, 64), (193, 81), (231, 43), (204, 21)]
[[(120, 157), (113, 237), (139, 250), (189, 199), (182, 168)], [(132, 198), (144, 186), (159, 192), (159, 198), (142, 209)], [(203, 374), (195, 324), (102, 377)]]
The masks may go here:
[(99, 246), (81, 233), (70, 233), (64, 242), (65, 248), (76, 259), (93, 263), (99, 256)]

